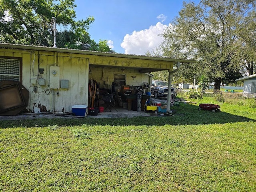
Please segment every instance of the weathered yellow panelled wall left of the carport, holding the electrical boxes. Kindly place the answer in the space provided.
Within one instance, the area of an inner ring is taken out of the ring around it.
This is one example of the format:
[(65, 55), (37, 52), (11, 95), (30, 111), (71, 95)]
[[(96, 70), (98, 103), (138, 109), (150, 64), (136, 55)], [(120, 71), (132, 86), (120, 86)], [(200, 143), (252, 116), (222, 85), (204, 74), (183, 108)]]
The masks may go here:
[[(81, 54), (3, 49), (0, 56), (22, 58), (22, 84), (30, 92), (28, 111), (72, 112), (73, 105), (88, 105), (89, 62)], [(68, 80), (69, 88), (51, 88), (51, 66), (59, 67), (59, 76), (54, 81)], [(38, 68), (44, 69), (44, 73), (39, 74)], [(39, 85), (39, 78), (45, 80), (45, 85)]]

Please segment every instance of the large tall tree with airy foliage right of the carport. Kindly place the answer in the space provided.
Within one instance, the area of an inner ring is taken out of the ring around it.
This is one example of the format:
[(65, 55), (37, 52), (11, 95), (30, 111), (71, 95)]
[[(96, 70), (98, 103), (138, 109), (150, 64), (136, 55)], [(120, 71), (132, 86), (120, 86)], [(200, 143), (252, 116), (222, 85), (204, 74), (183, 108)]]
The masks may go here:
[[(254, 0), (201, 0), (183, 3), (179, 16), (166, 28), (160, 50), (165, 56), (192, 58), (197, 64), (187, 64), (183, 76), (206, 76), (214, 81), (214, 89), (221, 82), (240, 77), (237, 49), (242, 49), (240, 29), (252, 17)], [(255, 29), (255, 28), (254, 28)], [(242, 52), (241, 52), (242, 53)]]

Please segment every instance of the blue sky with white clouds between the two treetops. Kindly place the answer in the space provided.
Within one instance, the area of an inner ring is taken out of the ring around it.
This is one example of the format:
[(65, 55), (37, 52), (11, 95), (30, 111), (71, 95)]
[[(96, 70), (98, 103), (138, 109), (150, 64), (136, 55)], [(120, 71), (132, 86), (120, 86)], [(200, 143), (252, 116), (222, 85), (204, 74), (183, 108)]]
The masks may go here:
[[(199, 0), (186, 0), (198, 2)], [(144, 55), (162, 41), (158, 36), (178, 16), (182, 0), (75, 0), (77, 19), (94, 16), (89, 34), (108, 40), (117, 53)]]

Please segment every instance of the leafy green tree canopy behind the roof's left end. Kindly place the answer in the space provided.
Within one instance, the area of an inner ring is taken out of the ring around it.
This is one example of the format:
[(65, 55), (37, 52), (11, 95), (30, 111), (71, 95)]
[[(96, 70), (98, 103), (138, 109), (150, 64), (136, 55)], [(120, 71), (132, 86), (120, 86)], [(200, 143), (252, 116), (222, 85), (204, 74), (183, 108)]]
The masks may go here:
[(76, 20), (74, 8), (74, 0), (0, 0), (0, 42), (53, 46), (55, 17), (57, 47), (114, 52), (107, 41), (90, 38), (94, 17)]

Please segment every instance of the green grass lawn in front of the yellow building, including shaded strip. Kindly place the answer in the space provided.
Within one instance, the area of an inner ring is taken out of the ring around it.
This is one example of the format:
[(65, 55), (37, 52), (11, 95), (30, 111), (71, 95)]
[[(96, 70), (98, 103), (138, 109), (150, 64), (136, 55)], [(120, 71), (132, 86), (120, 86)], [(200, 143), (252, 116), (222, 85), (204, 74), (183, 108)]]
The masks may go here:
[(0, 121), (0, 191), (254, 192), (255, 100), (236, 97), (175, 116)]

